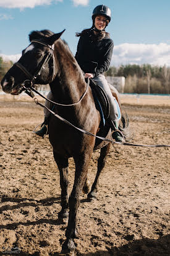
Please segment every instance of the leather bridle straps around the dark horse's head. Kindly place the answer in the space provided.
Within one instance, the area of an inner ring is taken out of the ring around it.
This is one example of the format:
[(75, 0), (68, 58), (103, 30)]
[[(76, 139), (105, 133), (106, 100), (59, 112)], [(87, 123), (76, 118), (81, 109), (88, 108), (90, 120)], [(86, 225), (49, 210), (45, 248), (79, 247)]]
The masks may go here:
[(46, 47), (48, 47), (50, 49), (50, 52), (47, 53), (45, 55), (45, 60), (43, 61), (43, 63), (41, 64), (41, 66), (38, 68), (38, 70), (35, 72), (34, 75), (32, 75), (27, 68), (25, 68), (25, 66), (23, 66), (20, 62), (16, 62), (14, 63), (15, 66), (17, 66), (18, 68), (20, 68), (20, 70), (23, 71), (23, 73), (27, 76), (27, 80), (23, 81), (22, 86), (24, 89), (28, 89), (30, 87), (32, 87), (33, 85), (35, 85), (35, 80), (38, 76), (41, 75), (41, 71), (43, 70), (45, 64), (52, 58), (53, 59), (53, 76), (51, 81), (53, 81), (54, 79), (54, 75), (55, 75), (55, 68), (54, 68), (54, 47), (51, 45), (48, 45), (46, 43), (42, 43), (40, 41), (37, 40), (32, 40), (32, 42), (30, 44), (32, 44), (33, 42), (35, 43), (40, 43), (41, 45), (45, 45)]

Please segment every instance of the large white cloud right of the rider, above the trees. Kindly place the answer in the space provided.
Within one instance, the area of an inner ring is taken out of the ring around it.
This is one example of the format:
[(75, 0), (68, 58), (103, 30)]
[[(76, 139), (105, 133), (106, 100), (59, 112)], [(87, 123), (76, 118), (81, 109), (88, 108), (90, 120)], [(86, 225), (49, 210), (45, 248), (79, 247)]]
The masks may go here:
[(113, 50), (112, 65), (121, 64), (168, 65), (170, 66), (170, 45), (167, 43), (144, 44), (123, 43)]

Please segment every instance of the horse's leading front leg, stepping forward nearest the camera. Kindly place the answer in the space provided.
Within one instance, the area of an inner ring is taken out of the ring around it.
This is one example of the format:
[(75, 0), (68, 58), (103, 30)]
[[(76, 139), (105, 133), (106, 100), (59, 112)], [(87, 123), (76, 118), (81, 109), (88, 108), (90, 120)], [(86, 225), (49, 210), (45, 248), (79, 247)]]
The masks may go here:
[[(92, 150), (91, 150), (92, 153)], [(88, 164), (90, 162), (91, 153), (80, 155), (75, 160), (75, 180), (72, 193), (69, 197), (69, 222), (66, 230), (66, 242), (62, 246), (62, 252), (70, 255), (74, 254), (75, 244), (74, 238), (77, 238), (77, 210), (80, 204), (80, 193), (82, 192), (85, 179), (87, 178)]]

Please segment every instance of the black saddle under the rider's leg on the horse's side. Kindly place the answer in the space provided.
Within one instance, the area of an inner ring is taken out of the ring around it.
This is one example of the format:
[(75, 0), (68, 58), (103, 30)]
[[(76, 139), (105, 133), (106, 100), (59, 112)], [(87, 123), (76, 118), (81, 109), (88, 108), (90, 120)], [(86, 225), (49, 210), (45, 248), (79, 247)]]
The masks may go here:
[(95, 81), (90, 80), (90, 88), (93, 94), (93, 99), (95, 101), (96, 109), (100, 112), (101, 124), (105, 126), (106, 120), (109, 117), (110, 105), (108, 96), (106, 95), (103, 88), (101, 88)]

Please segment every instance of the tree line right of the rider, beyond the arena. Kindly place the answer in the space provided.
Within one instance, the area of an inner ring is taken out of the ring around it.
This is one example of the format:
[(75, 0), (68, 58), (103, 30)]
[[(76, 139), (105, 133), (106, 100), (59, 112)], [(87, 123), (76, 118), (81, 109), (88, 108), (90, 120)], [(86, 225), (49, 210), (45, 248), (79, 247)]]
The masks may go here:
[(170, 67), (143, 65), (111, 66), (106, 76), (124, 76), (124, 93), (170, 93)]

